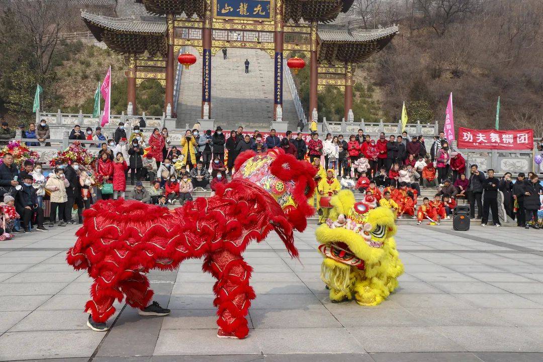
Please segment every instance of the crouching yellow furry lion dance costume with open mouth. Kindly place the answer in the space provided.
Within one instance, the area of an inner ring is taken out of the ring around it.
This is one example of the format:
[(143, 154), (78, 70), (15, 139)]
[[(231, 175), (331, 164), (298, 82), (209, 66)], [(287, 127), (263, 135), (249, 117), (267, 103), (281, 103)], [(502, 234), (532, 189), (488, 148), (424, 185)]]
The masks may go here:
[(354, 298), (361, 306), (376, 306), (396, 289), (403, 273), (393, 239), (395, 217), (371, 202), (355, 203), (350, 190), (340, 191), (331, 205), (330, 217), (315, 231), (330, 300)]

